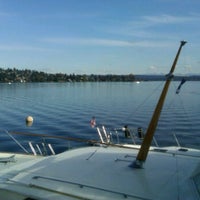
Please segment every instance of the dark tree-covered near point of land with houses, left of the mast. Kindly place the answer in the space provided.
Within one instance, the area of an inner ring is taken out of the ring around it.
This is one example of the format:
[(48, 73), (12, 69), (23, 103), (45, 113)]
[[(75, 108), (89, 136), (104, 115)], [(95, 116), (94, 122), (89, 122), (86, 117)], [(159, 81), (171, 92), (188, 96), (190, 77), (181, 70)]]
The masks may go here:
[(36, 70), (19, 70), (16, 68), (0, 68), (0, 82), (120, 82), (135, 81), (133, 74), (128, 75), (95, 75), (95, 74), (64, 74), (64, 73), (46, 73)]

